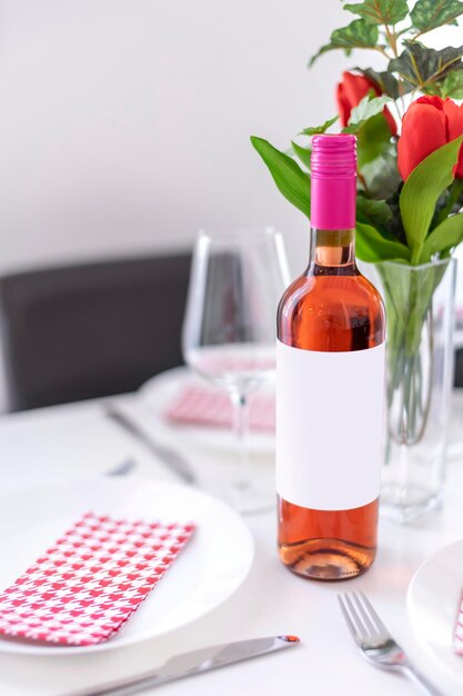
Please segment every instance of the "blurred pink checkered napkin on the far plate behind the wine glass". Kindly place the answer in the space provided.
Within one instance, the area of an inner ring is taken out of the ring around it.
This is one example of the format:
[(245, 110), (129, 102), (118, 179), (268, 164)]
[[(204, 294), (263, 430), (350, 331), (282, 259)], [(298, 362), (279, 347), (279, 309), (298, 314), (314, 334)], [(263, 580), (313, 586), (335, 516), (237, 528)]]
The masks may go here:
[[(200, 385), (185, 386), (168, 406), (164, 417), (177, 424), (231, 428), (233, 412), (230, 397)], [(250, 400), (252, 430), (275, 429), (275, 397), (254, 394)]]

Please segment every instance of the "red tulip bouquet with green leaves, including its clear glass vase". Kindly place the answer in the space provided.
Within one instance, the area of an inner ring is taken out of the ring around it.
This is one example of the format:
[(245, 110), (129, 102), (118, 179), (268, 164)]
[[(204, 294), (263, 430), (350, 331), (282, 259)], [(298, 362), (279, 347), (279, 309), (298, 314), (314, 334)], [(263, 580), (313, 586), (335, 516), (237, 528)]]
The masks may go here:
[(459, 0), (365, 0), (310, 60), (328, 51), (379, 52), (336, 87), (338, 115), (280, 151), (251, 138), (280, 192), (310, 217), (310, 138), (358, 138), (356, 256), (372, 265), (387, 315), (387, 438), (382, 500), (409, 520), (440, 501), (452, 384), (455, 260), (463, 240), (463, 46), (423, 37), (463, 14)]

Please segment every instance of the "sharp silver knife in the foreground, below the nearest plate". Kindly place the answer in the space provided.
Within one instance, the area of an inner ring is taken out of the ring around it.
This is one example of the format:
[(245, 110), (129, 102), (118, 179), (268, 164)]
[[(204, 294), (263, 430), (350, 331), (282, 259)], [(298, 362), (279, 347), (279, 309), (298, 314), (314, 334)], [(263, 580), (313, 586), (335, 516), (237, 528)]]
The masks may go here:
[(139, 694), (147, 688), (153, 688), (168, 682), (190, 677), (194, 674), (202, 674), (203, 672), (232, 665), (259, 655), (283, 650), (298, 645), (299, 642), (296, 636), (274, 636), (213, 645), (209, 648), (201, 648), (171, 657), (154, 672), (148, 672), (135, 679), (103, 684), (100, 687), (74, 692), (68, 696), (130, 696), (130, 694)]

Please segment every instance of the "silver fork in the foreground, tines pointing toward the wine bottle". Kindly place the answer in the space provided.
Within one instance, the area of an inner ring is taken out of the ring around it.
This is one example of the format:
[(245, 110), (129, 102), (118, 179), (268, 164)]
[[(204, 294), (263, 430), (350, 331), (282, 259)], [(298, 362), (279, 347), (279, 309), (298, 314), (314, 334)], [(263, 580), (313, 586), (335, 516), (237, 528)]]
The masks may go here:
[(402, 672), (419, 682), (432, 696), (442, 692), (410, 663), (362, 591), (338, 595), (349, 630), (369, 662), (382, 669)]

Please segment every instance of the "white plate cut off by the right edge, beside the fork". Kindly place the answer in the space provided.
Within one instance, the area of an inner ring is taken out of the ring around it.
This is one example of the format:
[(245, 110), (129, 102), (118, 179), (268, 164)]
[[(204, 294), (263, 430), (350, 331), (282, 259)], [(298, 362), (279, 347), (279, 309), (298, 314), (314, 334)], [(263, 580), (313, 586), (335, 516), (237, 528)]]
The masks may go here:
[(445, 546), (416, 570), (407, 609), (419, 643), (463, 693), (463, 657), (452, 640), (463, 585), (463, 539)]

